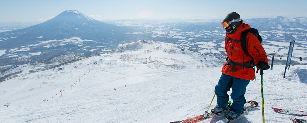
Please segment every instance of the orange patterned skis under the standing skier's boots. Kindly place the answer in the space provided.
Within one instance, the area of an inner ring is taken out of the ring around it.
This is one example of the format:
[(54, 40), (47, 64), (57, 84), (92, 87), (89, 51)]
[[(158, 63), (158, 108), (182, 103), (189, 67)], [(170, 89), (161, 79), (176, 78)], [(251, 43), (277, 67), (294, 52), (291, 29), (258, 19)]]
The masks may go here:
[[(244, 107), (244, 109), (248, 109), (246, 111), (249, 111), (254, 107), (257, 107), (257, 105), (258, 105), (258, 102), (256, 102), (256, 101), (247, 101), (246, 103), (249, 104), (249, 105)], [(207, 119), (212, 118), (212, 117), (220, 116), (221, 114), (224, 114), (228, 111), (225, 111), (225, 112), (222, 112), (222, 113), (219, 113), (219, 114), (213, 114), (211, 112), (205, 112), (204, 114), (202, 114), (200, 116), (192, 117), (192, 118), (185, 119), (185, 120), (182, 120), (182, 121), (170, 122), (170, 123), (197, 123), (197, 122), (207, 120)]]

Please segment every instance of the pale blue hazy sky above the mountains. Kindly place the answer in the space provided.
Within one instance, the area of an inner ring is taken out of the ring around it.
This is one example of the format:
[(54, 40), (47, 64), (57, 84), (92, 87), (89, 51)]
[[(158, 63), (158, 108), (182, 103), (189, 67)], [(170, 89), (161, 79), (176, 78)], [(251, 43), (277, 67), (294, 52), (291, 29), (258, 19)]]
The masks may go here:
[(306, 17), (306, 0), (0, 0), (0, 22), (44, 22), (65, 10), (91, 18), (241, 19)]

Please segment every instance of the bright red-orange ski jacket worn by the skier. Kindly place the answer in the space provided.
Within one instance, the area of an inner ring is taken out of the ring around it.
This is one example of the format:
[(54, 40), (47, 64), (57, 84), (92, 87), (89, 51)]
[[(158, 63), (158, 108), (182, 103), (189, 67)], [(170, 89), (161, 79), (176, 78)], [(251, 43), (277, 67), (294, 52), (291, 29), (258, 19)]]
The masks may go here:
[[(241, 20), (242, 21), (242, 20)], [(241, 40), (241, 33), (243, 30), (249, 29), (250, 26), (248, 24), (242, 23), (238, 29), (233, 34), (228, 34), (226, 32), (226, 38), (225, 38), (225, 50), (227, 53), (227, 57), (229, 60), (233, 62), (239, 62), (239, 63), (247, 63), (251, 62), (252, 58), (246, 54), (242, 50), (242, 46), (240, 42), (235, 42), (233, 40), (229, 40), (227, 42), (227, 37), (235, 40)], [(247, 50), (248, 53), (254, 58), (255, 65), (259, 61), (265, 61), (269, 62), (266, 51), (263, 49), (261, 43), (258, 41), (258, 38), (252, 34), (248, 33), (246, 36), (246, 44), (247, 44)], [(235, 72), (232, 71), (232, 65), (233, 64), (227, 64), (226, 62), (223, 66), (222, 73), (226, 75), (231, 75), (233, 77), (241, 78), (241, 79), (247, 79), (247, 80), (254, 80), (255, 79), (255, 69), (254, 68), (247, 68), (243, 66), (237, 66), (235, 65)]]

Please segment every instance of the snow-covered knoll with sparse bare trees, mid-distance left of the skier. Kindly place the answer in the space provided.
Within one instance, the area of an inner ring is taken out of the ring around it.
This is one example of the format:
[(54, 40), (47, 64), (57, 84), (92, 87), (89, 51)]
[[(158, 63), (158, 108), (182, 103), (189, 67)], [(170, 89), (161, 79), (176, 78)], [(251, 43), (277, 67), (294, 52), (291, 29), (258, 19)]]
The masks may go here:
[(223, 60), (187, 50), (178, 44), (157, 41), (140, 40), (138, 42), (122, 44), (122, 47), (110, 51), (107, 54), (112, 58), (125, 62), (140, 63), (148, 59), (148, 63), (183, 65), (183, 68), (206, 68), (223, 65), (223, 63), (221, 63)]

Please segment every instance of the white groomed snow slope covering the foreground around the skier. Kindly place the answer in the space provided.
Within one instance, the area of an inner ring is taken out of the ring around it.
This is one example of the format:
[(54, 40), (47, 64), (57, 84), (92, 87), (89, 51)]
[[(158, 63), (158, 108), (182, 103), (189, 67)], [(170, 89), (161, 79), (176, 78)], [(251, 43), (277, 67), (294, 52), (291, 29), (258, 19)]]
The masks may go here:
[[(174, 47), (161, 42), (143, 44), (143, 49), (92, 56), (36, 73), (29, 70), (41, 66), (11, 68), (0, 77), (23, 72), (0, 82), (1, 122), (168, 123), (201, 115), (208, 110), (221, 75), (222, 67), (214, 62), (219, 59), (187, 50), (181, 54), (181, 48)], [(163, 52), (171, 48), (179, 52)], [(142, 64), (145, 58), (146, 65)], [(199, 61), (204, 58), (206, 60)], [(174, 64), (186, 68), (170, 67)], [(199, 67), (209, 64), (217, 67)], [(271, 108), (306, 111), (306, 66), (290, 66), (285, 78), (284, 70), (285, 65), (274, 65), (272, 71), (264, 71), (265, 121), (269, 123), (292, 123), (289, 118), (306, 119), (276, 113)], [(63, 90), (62, 96), (60, 90)], [(259, 106), (233, 123), (262, 123), (259, 74), (250, 81), (245, 97), (257, 101)], [(10, 104), (8, 108), (4, 106), (6, 103)], [(210, 109), (215, 105), (216, 97)], [(203, 123), (215, 122), (218, 118)]]

